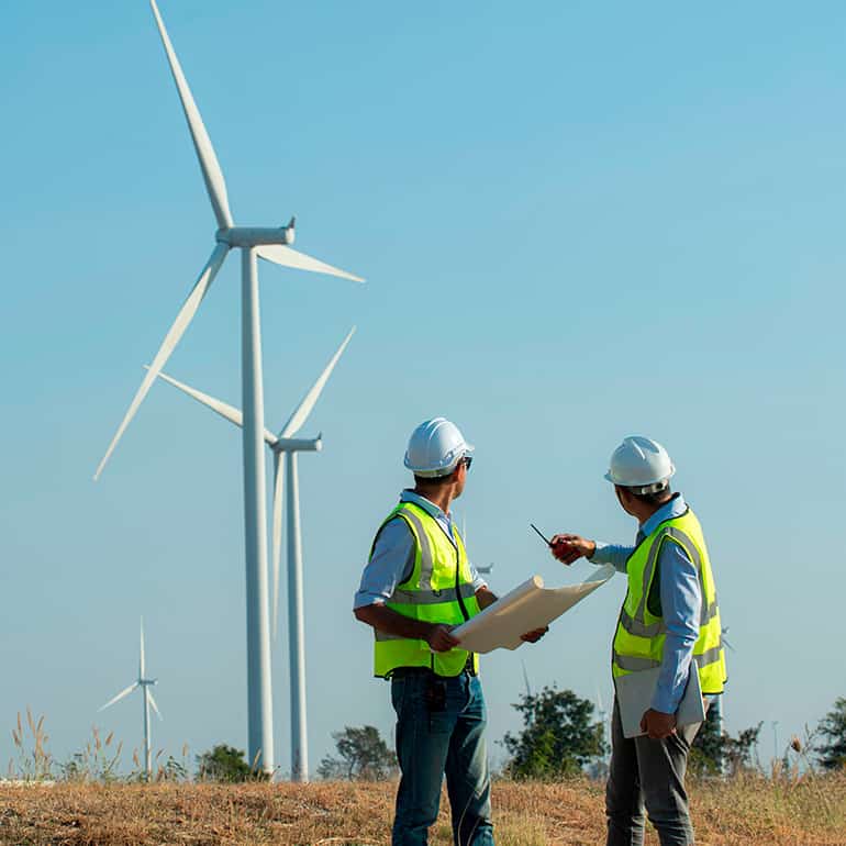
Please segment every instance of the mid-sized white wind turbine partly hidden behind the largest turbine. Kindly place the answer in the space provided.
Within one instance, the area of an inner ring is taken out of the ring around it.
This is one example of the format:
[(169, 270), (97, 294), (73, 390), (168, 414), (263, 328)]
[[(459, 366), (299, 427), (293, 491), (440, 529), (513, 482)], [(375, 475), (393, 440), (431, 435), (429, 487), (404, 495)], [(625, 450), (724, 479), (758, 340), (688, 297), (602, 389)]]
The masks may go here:
[[(279, 609), (279, 559), (281, 557), (282, 533), (282, 489), (285, 475), (288, 472), (288, 649), (290, 660), (290, 695), (291, 695), (291, 779), (308, 781), (309, 779), (309, 738), (305, 726), (305, 634), (302, 603), (302, 539), (300, 535), (300, 487), (297, 470), (297, 453), (320, 452), (323, 448), (323, 436), (305, 439), (294, 435), (309, 419), (312, 409), (320, 398), (323, 388), (332, 375), (338, 359), (353, 337), (355, 326), (344, 338), (341, 346), (330, 359), (323, 372), (309, 389), (308, 393), (294, 409), (279, 435), (265, 428), (265, 443), (274, 454), (274, 637), (277, 632)], [(183, 382), (177, 381), (165, 372), (158, 377), (175, 388), (192, 397), (203, 405), (208, 405), (218, 414), (234, 423), (243, 425), (241, 411), (221, 400), (198, 391)], [(282, 464), (285, 458), (285, 464)]]

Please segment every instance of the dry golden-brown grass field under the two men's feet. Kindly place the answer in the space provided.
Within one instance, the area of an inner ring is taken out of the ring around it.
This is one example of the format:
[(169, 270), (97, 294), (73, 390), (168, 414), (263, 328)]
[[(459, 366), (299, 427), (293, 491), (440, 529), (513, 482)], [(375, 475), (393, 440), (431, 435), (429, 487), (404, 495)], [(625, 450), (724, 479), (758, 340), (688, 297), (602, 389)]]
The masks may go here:
[[(0, 787), (0, 844), (390, 843), (394, 784), (76, 784)], [(700, 846), (846, 846), (846, 773), (691, 783)], [(602, 787), (498, 781), (499, 846), (604, 843)], [(448, 846), (443, 809), (431, 843)], [(654, 833), (647, 844), (657, 844)]]

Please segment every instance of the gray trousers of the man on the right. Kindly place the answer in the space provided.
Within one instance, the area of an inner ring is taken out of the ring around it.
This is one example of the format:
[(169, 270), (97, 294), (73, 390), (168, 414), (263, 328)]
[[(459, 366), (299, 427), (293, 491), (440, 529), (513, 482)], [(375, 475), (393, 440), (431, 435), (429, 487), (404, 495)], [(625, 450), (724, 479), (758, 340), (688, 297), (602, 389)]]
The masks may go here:
[(614, 700), (605, 788), (606, 846), (643, 846), (644, 806), (661, 846), (693, 845), (684, 771), (700, 725), (686, 725), (663, 741), (646, 735), (626, 738)]

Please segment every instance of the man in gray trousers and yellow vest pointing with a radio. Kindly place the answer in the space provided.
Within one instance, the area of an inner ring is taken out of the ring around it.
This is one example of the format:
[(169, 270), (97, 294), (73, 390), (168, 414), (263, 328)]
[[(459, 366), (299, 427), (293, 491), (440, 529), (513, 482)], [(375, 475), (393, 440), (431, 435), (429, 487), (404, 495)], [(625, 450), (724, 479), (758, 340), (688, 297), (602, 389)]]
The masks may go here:
[(688, 752), (700, 723), (676, 726), (690, 672), (706, 698), (722, 693), (725, 654), (716, 588), (702, 527), (680, 493), (670, 491), (676, 468), (647, 437), (626, 437), (605, 478), (623, 510), (639, 523), (634, 547), (557, 534), (553, 555), (565, 564), (585, 556), (613, 564), (628, 577), (612, 649), (614, 679), (660, 668), (643, 735), (626, 738), (615, 699), (611, 766), (605, 790), (608, 846), (641, 846), (644, 806), (661, 846), (690, 846), (693, 828), (684, 790)]

